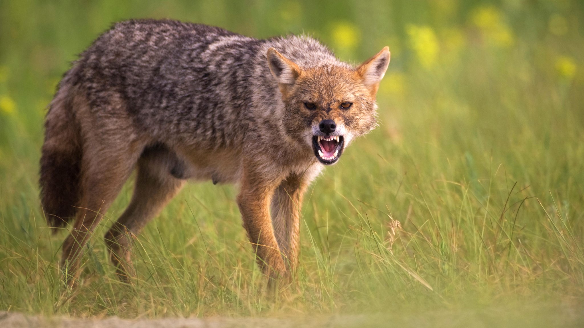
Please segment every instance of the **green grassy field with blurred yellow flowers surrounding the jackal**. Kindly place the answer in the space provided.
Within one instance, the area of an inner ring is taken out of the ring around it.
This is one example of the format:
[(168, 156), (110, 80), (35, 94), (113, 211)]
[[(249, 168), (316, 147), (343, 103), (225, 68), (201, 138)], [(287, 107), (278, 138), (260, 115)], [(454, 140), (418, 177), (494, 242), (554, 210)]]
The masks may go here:
[[(390, 46), (380, 127), (308, 191), (297, 281), (266, 296), (233, 186), (191, 183), (114, 277), (103, 234), (62, 288), (39, 205), (60, 76), (116, 20), (310, 33), (350, 62)], [(78, 317), (517, 309), (584, 314), (584, 5), (579, 1), (0, 1), (0, 310)], [(533, 309), (533, 308), (530, 308)], [(511, 312), (513, 313), (513, 312)], [(530, 314), (531, 313), (531, 314)], [(398, 320), (399, 321), (399, 320)], [(533, 321), (533, 320), (532, 320)], [(544, 321), (542, 321), (544, 322)]]

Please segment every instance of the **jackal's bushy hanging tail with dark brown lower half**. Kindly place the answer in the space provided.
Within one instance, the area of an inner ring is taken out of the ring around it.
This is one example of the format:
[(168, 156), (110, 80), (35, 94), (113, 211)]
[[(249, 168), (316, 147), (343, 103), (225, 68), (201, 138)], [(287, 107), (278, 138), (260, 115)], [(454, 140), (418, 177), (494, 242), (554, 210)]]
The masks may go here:
[(53, 228), (67, 225), (77, 212), (81, 157), (81, 131), (72, 108), (71, 88), (64, 79), (48, 109), (40, 159), (41, 202)]

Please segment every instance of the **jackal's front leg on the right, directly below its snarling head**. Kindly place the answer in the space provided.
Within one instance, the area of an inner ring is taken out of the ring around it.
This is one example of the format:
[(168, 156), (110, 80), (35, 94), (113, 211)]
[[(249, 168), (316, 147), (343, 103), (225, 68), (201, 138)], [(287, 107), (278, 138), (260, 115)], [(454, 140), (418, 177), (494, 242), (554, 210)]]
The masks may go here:
[(298, 247), (300, 242), (300, 208), (307, 187), (300, 175), (292, 173), (274, 191), (271, 214), (274, 235), (291, 277), (298, 264)]

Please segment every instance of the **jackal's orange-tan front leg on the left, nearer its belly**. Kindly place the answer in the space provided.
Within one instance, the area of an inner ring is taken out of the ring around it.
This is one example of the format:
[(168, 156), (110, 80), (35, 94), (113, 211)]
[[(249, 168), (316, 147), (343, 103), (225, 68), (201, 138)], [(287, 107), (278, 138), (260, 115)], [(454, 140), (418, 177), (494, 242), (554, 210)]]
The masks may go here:
[(288, 275), (269, 213), (270, 197), (277, 183), (279, 181), (266, 179), (260, 173), (244, 172), (237, 197), (259, 267), (265, 275), (274, 279)]

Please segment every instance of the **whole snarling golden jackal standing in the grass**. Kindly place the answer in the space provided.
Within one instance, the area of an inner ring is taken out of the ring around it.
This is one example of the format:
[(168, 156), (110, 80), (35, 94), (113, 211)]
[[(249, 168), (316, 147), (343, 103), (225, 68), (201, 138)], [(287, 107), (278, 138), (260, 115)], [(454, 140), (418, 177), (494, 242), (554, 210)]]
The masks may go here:
[(48, 223), (75, 217), (65, 281), (137, 168), (134, 196), (105, 239), (122, 279), (137, 234), (187, 179), (238, 183), (258, 264), (290, 277), (304, 191), (352, 139), (376, 126), (387, 47), (352, 67), (307, 36), (256, 40), (172, 20), (116, 23), (64, 75), (40, 161)]

